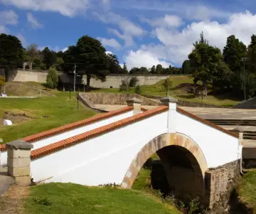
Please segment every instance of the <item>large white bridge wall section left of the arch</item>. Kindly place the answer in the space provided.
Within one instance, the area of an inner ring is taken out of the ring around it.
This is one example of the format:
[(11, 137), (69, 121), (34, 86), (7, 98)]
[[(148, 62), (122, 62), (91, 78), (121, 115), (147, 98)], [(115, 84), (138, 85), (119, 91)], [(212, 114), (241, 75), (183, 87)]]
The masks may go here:
[(31, 162), (34, 181), (89, 186), (121, 183), (134, 157), (156, 136), (167, 132), (167, 112), (95, 137)]

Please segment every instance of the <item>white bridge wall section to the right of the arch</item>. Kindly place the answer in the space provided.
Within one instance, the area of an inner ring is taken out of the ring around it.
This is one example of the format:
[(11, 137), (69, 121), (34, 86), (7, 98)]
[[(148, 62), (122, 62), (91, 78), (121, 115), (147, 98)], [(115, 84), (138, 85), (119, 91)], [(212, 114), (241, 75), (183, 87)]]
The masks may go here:
[(176, 114), (176, 132), (186, 134), (198, 144), (209, 168), (238, 159), (239, 141), (237, 138), (178, 112)]

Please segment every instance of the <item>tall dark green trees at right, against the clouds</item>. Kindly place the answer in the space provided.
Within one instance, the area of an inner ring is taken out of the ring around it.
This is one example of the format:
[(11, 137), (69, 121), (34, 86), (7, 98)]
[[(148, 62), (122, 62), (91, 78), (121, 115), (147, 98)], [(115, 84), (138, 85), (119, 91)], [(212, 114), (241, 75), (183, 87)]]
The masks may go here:
[(202, 32), (184, 63), (193, 81), (203, 83), (206, 96), (208, 85), (215, 93), (229, 92), (245, 100), (256, 95), (255, 35), (252, 35), (249, 46), (235, 35), (228, 36), (222, 53), (219, 48), (209, 45)]

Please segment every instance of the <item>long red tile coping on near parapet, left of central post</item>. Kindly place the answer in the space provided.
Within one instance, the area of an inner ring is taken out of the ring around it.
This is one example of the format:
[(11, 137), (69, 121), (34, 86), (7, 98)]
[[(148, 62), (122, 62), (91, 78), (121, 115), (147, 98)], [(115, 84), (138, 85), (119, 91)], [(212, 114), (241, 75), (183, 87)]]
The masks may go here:
[(151, 117), (155, 114), (160, 114), (162, 112), (166, 112), (167, 110), (168, 110), (168, 107), (166, 107), (166, 106), (157, 107), (155, 109), (151, 109), (151, 110), (148, 110), (146, 112), (142, 112), (140, 114), (135, 114), (132, 117), (128, 117), (126, 119), (121, 119), (117, 122), (107, 124), (103, 127), (99, 127), (97, 129), (90, 130), (89, 132), (78, 134), (74, 137), (70, 137), (68, 139), (58, 141), (54, 144), (50, 144), (48, 146), (43, 146), (40, 149), (36, 149), (36, 150), (31, 151), (31, 159), (38, 159), (41, 156), (45, 156), (47, 154), (51, 154), (55, 151), (59, 151), (59, 150), (64, 149), (66, 147), (73, 146), (75, 144), (78, 144), (82, 141), (91, 139), (93, 137), (98, 137), (101, 134), (106, 134), (107, 132), (111, 132), (115, 129), (119, 129), (120, 127), (124, 127), (124, 126), (127, 126), (129, 124), (133, 124), (134, 122), (138, 122), (142, 119)]

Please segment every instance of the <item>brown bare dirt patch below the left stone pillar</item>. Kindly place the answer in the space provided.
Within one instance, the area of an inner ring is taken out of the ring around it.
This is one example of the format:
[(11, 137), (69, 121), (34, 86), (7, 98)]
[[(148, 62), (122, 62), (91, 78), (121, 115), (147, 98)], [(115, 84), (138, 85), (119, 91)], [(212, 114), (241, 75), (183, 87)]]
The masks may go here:
[(0, 214), (23, 214), (23, 199), (28, 196), (28, 187), (11, 186), (0, 200)]

